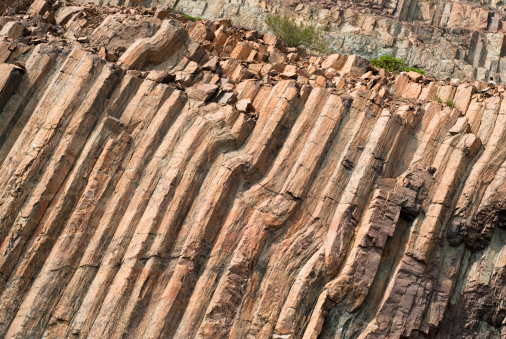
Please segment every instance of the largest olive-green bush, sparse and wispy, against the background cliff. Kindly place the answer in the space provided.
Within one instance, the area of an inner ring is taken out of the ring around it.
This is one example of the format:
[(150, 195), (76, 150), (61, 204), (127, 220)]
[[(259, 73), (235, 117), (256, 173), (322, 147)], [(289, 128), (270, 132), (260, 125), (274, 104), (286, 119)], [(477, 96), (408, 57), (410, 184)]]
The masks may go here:
[(328, 52), (323, 30), (311, 23), (296, 23), (288, 17), (268, 15), (265, 24), (289, 47), (306, 47), (321, 53)]

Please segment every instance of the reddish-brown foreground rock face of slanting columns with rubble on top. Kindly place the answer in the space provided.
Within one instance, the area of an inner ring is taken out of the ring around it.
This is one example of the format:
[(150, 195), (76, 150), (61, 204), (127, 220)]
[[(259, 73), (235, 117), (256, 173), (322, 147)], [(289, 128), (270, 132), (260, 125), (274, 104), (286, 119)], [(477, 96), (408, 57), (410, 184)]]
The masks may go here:
[(504, 87), (29, 13), (0, 17), (0, 337), (506, 337)]

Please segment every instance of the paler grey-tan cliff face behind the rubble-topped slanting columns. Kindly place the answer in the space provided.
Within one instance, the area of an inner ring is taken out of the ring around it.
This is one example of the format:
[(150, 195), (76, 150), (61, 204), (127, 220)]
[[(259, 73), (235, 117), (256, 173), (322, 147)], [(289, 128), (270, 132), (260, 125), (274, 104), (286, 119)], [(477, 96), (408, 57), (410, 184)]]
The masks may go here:
[(387, 54), (437, 77), (506, 80), (503, 2), (388, 0), (79, 0), (103, 5), (176, 6), (194, 16), (230, 18), (266, 30), (268, 13), (318, 23), (334, 52)]

